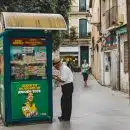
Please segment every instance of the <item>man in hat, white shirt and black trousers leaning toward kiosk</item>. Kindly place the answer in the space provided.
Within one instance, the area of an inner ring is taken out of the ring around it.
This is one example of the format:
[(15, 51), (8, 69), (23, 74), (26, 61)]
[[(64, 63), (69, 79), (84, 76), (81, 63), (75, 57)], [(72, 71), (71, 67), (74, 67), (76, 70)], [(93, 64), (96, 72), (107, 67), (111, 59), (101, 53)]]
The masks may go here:
[(73, 74), (69, 67), (61, 64), (60, 59), (55, 58), (53, 66), (60, 71), (60, 76), (53, 75), (53, 78), (61, 82), (62, 97), (61, 97), (61, 116), (60, 121), (70, 121), (72, 110), (72, 93), (73, 93)]

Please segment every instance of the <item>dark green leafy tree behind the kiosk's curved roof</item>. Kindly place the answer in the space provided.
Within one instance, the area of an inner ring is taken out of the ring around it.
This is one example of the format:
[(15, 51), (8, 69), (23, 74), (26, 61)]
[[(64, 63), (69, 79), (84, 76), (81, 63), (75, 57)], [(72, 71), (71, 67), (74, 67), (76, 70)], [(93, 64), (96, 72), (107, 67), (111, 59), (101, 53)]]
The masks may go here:
[[(30, 13), (59, 13), (68, 23), (72, 0), (0, 0), (0, 11), (3, 12), (30, 12)], [(62, 34), (52, 31), (53, 49), (56, 50)]]

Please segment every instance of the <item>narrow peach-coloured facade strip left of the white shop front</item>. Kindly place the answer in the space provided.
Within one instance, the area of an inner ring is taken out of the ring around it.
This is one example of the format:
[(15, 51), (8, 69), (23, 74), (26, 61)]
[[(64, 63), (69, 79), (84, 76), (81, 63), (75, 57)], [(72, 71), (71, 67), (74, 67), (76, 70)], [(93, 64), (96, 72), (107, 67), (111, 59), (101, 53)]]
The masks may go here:
[[(92, 17), (90, 22), (92, 24), (92, 39), (91, 39), (91, 66), (94, 77), (100, 80), (100, 3), (99, 0), (89, 1), (89, 6), (91, 8), (90, 12)], [(98, 42), (99, 41), (99, 42)]]

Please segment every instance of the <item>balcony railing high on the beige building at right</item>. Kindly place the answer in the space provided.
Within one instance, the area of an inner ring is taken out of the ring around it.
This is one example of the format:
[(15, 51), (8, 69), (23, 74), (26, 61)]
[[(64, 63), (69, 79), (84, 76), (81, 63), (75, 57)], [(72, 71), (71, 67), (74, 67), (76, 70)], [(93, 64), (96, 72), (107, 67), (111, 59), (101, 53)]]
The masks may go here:
[(105, 12), (106, 29), (112, 27), (118, 20), (118, 6), (113, 6)]

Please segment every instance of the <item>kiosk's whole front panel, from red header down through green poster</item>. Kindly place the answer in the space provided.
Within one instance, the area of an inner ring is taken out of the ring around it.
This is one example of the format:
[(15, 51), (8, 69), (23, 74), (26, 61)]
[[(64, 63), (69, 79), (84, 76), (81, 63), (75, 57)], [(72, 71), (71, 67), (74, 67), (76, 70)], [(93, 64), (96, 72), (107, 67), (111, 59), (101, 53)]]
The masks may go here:
[(12, 118), (48, 117), (45, 41), (13, 39), (10, 57)]

